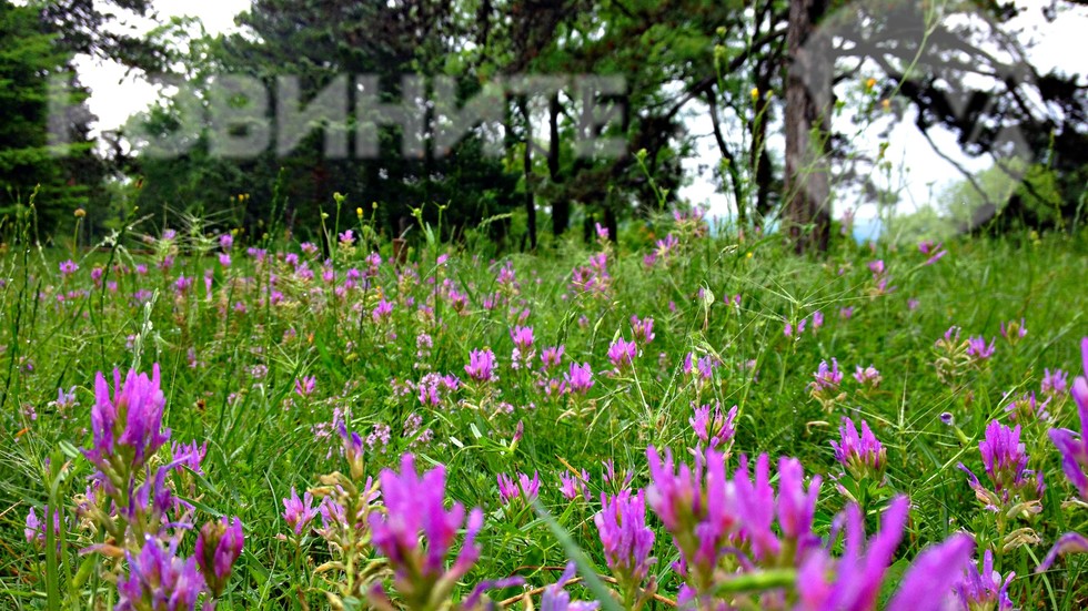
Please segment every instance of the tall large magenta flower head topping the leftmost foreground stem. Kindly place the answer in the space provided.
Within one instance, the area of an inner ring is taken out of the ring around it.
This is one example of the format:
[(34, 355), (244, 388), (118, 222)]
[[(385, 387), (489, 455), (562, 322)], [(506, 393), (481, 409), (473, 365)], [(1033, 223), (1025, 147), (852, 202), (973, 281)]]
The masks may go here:
[[(113, 370), (113, 397), (100, 371), (94, 378), (94, 407), (91, 408), (93, 447), (83, 450), (87, 459), (99, 468), (107, 481), (117, 469), (140, 470), (148, 459), (170, 439), (170, 429), (162, 429), (162, 410), (167, 405), (159, 386), (159, 364), (147, 374), (129, 371), (121, 383), (121, 371)], [(118, 465), (120, 461), (120, 465)]]

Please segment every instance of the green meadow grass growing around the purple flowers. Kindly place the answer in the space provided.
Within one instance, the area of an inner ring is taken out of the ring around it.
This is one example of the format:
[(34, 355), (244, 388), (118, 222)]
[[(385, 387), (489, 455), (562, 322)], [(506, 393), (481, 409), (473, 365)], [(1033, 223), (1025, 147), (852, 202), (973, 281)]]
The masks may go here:
[[(421, 470), (445, 466), (446, 497), (484, 515), (481, 558), (457, 595), (481, 580), (524, 577), (526, 585), (492, 592), (501, 601), (553, 583), (575, 547), (593, 571), (611, 574), (594, 523), (601, 493), (616, 493), (627, 470), (632, 488), (654, 483), (647, 447), (691, 461), (705, 446), (689, 422), (694, 408), (716, 405), (737, 407), (731, 471), (742, 455), (766, 452), (796, 457), (823, 477), (817, 534), (833, 530), (847, 505), (843, 490), (860, 501), (869, 532), (895, 495), (909, 496), (907, 533), (880, 600), (921, 549), (967, 532), (979, 554), (997, 552), (1001, 574), (1016, 572), (1017, 607), (1082, 607), (1081, 557), (1034, 572), (1061, 533), (1086, 531), (1084, 510), (1062, 507), (1076, 490), (1047, 436), (1079, 428), (1068, 393), (1050, 399), (1049, 419), (1021, 414), (1015, 422), (1030, 469), (1044, 473), (1040, 512), (998, 523), (957, 464), (981, 476), (987, 425), (1013, 426), (1007, 408), (1026, 393), (1041, 403), (1045, 368), (1070, 371), (1070, 380), (1080, 371), (1084, 233), (957, 241), (928, 263), (913, 245), (849, 241), (823, 258), (797, 257), (775, 235), (712, 236), (697, 216), (654, 227), (675, 240), (564, 243), (497, 261), (432, 236), (397, 263), (389, 243), (366, 238), (365, 223), (351, 236), (330, 232), (325, 252), (241, 236), (224, 247), (199, 226), (122, 236), (75, 257), (8, 245), (0, 256), (0, 607), (118, 602), (111, 580), (124, 574), (124, 561), (80, 553), (105, 541), (74, 509), (95, 470), (80, 448), (92, 445), (95, 374), (112, 386), (114, 368), (148, 373), (152, 364), (171, 441), (206, 441), (199, 471), (179, 468), (171, 480), (193, 508), (189, 521), (194, 530), (222, 516), (244, 525), (221, 608), (366, 607), (344, 594), (349, 571), (326, 564), (339, 552), (312, 530), (294, 536), (282, 516), (292, 488), (302, 495), (322, 486), (320, 476), (349, 471), (341, 426), (357, 432), (366, 476), (396, 469), (404, 452)], [(77, 268), (62, 269), (67, 261)], [(647, 340), (634, 327), (649, 318)], [(1022, 338), (1003, 337), (1003, 324), (1021, 319)], [(935, 344), (953, 326), (961, 338), (944, 354)], [(532, 327), (520, 357), (516, 327)], [(968, 336), (996, 338), (993, 356), (965, 356)], [(617, 339), (635, 343), (635, 357), (618, 358), (618, 367), (610, 358)], [(561, 361), (544, 369), (541, 355), (558, 346)], [(496, 363), (474, 375), (471, 353), (486, 349)], [(842, 381), (822, 389), (814, 378), (822, 361), (837, 363)], [(572, 364), (592, 369), (587, 390), (574, 389)], [(856, 381), (855, 367), (870, 365), (879, 384)], [(844, 416), (865, 420), (883, 442), (883, 482), (858, 485), (836, 461), (830, 441)], [(150, 464), (169, 461), (167, 444)], [(605, 461), (617, 471), (611, 481)], [(561, 475), (582, 469), (587, 482), (570, 499)], [(503, 503), (496, 478), (534, 472), (538, 502), (515, 486), (516, 498)], [(66, 508), (59, 554), (47, 553), (52, 533), (23, 537), (28, 511), (41, 515), (47, 503)], [(651, 607), (664, 608), (683, 581), (673, 567), (679, 552), (661, 520), (649, 516), (648, 526), (661, 597)], [(192, 553), (194, 539), (183, 537), (179, 553)], [(361, 549), (361, 561), (380, 557)], [(374, 567), (390, 589), (389, 573)]]

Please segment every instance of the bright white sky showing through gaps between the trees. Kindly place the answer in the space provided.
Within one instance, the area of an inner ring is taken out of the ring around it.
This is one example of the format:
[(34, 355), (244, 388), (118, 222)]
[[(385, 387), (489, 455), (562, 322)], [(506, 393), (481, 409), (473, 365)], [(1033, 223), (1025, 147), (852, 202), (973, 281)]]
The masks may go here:
[[(1041, 18), (1039, 9), (1048, 1), (1018, 0), (1018, 4), (1028, 10), (1011, 24), (1026, 29), (1027, 40), (1021, 39), (1021, 44), (1034, 43), (1027, 52), (1029, 60), (1044, 73), (1050, 69), (1088, 73), (1088, 65), (1084, 59), (1076, 53), (1069, 53), (1070, 45), (1076, 47), (1075, 41), (1081, 39), (1084, 32), (1088, 31), (1088, 8), (1079, 7), (1065, 13), (1054, 23), (1047, 23)], [(204, 29), (215, 34), (234, 29), (234, 16), (248, 9), (250, 0), (154, 0), (154, 6), (162, 17), (198, 17)], [(137, 28), (151, 26), (150, 21), (135, 22)], [(91, 112), (99, 118), (93, 125), (95, 131), (111, 130), (121, 125), (131, 114), (145, 110), (155, 98), (154, 88), (139, 75), (125, 74), (124, 69), (119, 64), (79, 58), (77, 69), (83, 84), (92, 92), (89, 105)], [(696, 139), (695, 157), (684, 163), (689, 184), (681, 190), (679, 195), (694, 204), (707, 205), (712, 216), (727, 216), (732, 210), (729, 198), (718, 193), (712, 180), (712, 172), (717, 166), (719, 156), (712, 136), (709, 119), (703, 112), (704, 109), (693, 104), (692, 110), (695, 112), (687, 119), (691, 131), (699, 136)], [(768, 147), (773, 154), (777, 152), (780, 159), (780, 151), (784, 147), (780, 125), (777, 126), (777, 131), (779, 135), (768, 144)], [(979, 171), (989, 166), (988, 161), (973, 160), (963, 154), (953, 134), (935, 130), (930, 135), (941, 154), (956, 160), (964, 167)], [(894, 166), (893, 182), (903, 189), (897, 208), (899, 212), (910, 212), (926, 205), (941, 190), (961, 180), (959, 171), (935, 154), (930, 144), (914, 126), (910, 111), (894, 126), (888, 142), (887, 159)], [(856, 145), (872, 154), (879, 146), (879, 141), (870, 131), (859, 134)], [(836, 203), (835, 215), (838, 216), (846, 207), (857, 208), (856, 215), (859, 218), (873, 217), (877, 214), (872, 205), (857, 206), (855, 202), (845, 201)]]

